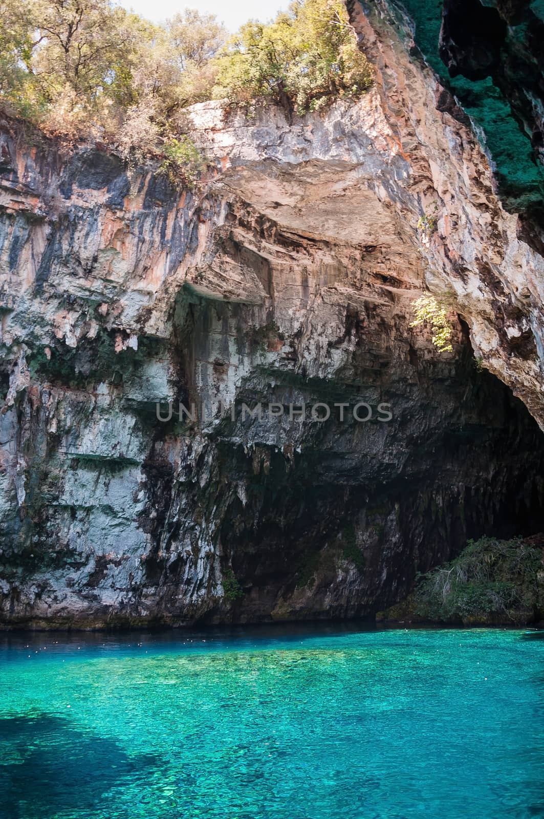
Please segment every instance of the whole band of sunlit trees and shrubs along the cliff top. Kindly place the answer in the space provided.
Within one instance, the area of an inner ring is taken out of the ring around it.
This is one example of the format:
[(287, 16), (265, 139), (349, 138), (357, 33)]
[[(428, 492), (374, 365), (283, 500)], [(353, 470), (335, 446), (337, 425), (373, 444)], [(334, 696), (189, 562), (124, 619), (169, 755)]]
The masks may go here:
[(169, 145), (170, 160), (184, 154), (194, 102), (265, 97), (302, 113), (371, 81), (342, 0), (295, 0), (230, 38), (194, 9), (153, 25), (111, 0), (0, 0), (0, 106), (137, 160)]

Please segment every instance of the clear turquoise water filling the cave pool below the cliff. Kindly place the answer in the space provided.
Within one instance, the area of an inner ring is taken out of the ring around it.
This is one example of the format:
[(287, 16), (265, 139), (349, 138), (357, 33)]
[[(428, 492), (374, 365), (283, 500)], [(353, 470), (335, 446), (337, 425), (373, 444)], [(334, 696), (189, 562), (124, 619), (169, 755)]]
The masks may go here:
[(0, 817), (544, 817), (544, 640), (0, 640)]

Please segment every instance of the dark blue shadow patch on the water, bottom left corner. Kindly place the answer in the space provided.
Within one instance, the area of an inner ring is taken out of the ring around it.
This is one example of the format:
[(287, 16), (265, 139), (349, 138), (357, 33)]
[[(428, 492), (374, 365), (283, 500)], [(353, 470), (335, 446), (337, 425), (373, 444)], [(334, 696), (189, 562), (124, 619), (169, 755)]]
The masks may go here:
[[(47, 713), (0, 719), (0, 817), (49, 819), (111, 809), (111, 790), (148, 776), (158, 760)], [(107, 812), (107, 811), (106, 811)]]

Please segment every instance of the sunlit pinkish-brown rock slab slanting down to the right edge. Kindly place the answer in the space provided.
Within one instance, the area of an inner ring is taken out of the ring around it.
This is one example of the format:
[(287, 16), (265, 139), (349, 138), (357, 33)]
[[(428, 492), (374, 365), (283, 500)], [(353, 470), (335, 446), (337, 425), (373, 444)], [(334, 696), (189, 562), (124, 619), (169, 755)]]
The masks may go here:
[[(537, 226), (505, 210), (469, 117), (415, 46), (410, 18), (382, 0), (351, 16), (373, 58), (376, 93), (412, 172), (406, 219), (434, 214), (419, 247), (425, 278), (449, 293), (469, 324), (475, 355), (543, 423), (544, 260)], [(531, 237), (528, 236), (531, 233)]]

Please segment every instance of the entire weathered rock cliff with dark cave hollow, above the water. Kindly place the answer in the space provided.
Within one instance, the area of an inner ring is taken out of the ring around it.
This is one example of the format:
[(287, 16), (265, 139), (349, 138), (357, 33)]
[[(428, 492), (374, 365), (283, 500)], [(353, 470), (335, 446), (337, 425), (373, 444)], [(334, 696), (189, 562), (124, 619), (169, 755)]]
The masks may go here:
[[(194, 106), (192, 191), (3, 124), (4, 623), (372, 616), (542, 528), (542, 256), (406, 18), (351, 13), (373, 91)], [(425, 287), (452, 353), (410, 327)]]

